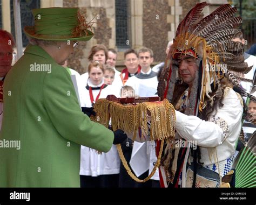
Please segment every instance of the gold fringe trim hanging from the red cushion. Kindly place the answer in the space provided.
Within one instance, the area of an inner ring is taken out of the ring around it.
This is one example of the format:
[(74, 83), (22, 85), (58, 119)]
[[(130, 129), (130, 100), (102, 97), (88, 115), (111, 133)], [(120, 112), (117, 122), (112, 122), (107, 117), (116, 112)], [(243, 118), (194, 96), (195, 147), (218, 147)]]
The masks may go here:
[(96, 102), (94, 110), (97, 116), (92, 116), (92, 121), (107, 127), (111, 118), (113, 130), (121, 129), (125, 133), (133, 133), (133, 140), (139, 128), (142, 129), (142, 135), (149, 136), (147, 126), (149, 118), (151, 118), (151, 140), (169, 139), (175, 135), (175, 110), (166, 99), (160, 102), (123, 105), (102, 98)]

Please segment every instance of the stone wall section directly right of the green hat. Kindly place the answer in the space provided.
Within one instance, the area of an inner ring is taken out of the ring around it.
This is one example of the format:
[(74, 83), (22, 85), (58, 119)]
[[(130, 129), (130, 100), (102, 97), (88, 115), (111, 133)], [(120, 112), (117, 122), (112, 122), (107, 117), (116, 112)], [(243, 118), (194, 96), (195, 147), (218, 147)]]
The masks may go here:
[(115, 45), (114, 0), (63, 0), (63, 7), (78, 7), (79, 12), (87, 17), (87, 23), (91, 20), (95, 22), (92, 26), (95, 36), (89, 41), (79, 41), (68, 59), (68, 66), (83, 74), (87, 72), (87, 57), (92, 46), (104, 44), (107, 48), (113, 48)]

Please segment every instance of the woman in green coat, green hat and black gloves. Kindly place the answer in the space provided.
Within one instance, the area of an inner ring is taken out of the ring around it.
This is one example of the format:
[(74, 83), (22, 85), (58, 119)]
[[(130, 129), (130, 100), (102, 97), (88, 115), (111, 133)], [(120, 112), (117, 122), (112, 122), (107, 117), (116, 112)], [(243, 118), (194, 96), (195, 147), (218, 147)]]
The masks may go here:
[(77, 10), (35, 9), (35, 26), (24, 29), (34, 45), (4, 82), (0, 187), (79, 187), (80, 145), (107, 152), (126, 138), (83, 114), (61, 66), (93, 36)]

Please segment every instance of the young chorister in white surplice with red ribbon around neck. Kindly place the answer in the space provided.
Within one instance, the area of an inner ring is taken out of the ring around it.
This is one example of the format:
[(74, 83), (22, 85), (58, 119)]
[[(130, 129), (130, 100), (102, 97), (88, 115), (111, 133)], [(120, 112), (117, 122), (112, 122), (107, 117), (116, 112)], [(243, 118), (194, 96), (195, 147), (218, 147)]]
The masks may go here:
[[(112, 69), (112, 68), (111, 68)], [(100, 98), (107, 95), (119, 97), (113, 86), (105, 84), (102, 63), (91, 62), (88, 67), (89, 79), (84, 91), (86, 107), (92, 107)], [(81, 187), (118, 187), (120, 158), (116, 146), (107, 153), (98, 154), (95, 150), (81, 146), (80, 185)]]

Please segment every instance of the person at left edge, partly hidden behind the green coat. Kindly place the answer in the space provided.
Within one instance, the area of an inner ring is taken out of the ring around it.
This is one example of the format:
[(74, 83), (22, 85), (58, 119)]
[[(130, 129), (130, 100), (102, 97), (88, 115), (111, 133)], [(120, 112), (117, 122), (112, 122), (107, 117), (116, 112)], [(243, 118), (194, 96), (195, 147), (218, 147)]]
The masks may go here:
[(0, 29), (0, 131), (3, 119), (3, 83), (6, 74), (11, 69), (14, 46), (14, 37), (9, 32)]

